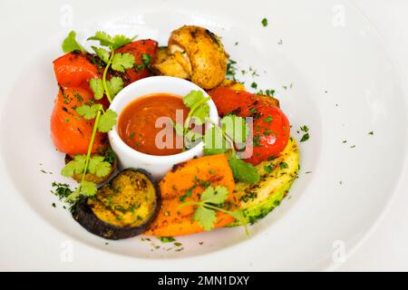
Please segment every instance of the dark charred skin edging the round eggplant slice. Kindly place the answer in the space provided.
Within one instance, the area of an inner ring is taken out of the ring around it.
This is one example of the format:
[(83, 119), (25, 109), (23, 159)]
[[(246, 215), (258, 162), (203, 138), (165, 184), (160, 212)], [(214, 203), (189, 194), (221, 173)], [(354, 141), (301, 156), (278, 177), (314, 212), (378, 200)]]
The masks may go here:
[[(88, 198), (84, 198), (78, 202), (73, 208), (73, 219), (75, 219), (81, 226), (83, 226), (90, 233), (103, 237), (106, 239), (118, 240), (123, 238), (135, 237), (144, 233), (150, 226), (153, 220), (157, 217), (161, 200), (160, 200), (160, 188), (156, 181), (151, 177), (151, 174), (144, 169), (124, 169), (116, 177), (125, 171), (131, 170), (138, 172), (146, 176), (155, 189), (155, 207), (151, 216), (138, 225), (137, 227), (118, 227), (104, 222), (102, 219), (97, 218), (93, 213), (92, 208), (88, 204)], [(111, 186), (113, 179), (105, 186)]]

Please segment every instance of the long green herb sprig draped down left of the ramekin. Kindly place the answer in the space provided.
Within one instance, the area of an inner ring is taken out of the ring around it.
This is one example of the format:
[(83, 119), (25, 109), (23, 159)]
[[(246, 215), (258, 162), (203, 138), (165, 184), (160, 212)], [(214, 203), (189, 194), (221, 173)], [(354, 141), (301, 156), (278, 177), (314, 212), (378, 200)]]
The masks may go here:
[[(63, 52), (70, 53), (75, 50), (84, 52), (83, 45), (75, 39), (75, 32), (71, 32), (63, 41)], [(107, 80), (107, 73), (110, 69), (120, 73), (132, 68), (135, 65), (134, 56), (131, 53), (115, 53), (115, 50), (121, 46), (131, 43), (136, 38), (128, 38), (124, 35), (106, 34), (104, 32), (96, 32), (88, 40), (99, 42), (100, 46), (92, 46), (93, 51), (105, 63), (105, 68), (101, 79), (91, 79), (89, 81), (90, 88), (93, 92), (93, 99), (98, 101), (106, 95), (109, 102), (115, 95), (123, 89), (123, 80), (121, 77), (113, 76)], [(103, 48), (104, 47), (104, 48)], [(107, 48), (107, 49), (105, 49)], [(92, 147), (98, 131), (106, 133), (111, 131), (116, 124), (117, 113), (111, 109), (104, 110), (99, 103), (83, 104), (75, 109), (75, 111), (85, 120), (94, 120), (92, 128), (92, 136), (88, 146), (86, 155), (77, 155), (74, 160), (70, 161), (62, 170), (65, 177), (72, 177), (73, 174), (83, 174), (81, 182), (65, 199), (67, 201), (76, 200), (82, 196), (91, 197), (96, 194), (97, 185), (91, 181), (85, 180), (87, 173), (95, 174), (97, 177), (105, 177), (111, 171), (111, 163), (104, 160), (102, 156), (92, 156)]]

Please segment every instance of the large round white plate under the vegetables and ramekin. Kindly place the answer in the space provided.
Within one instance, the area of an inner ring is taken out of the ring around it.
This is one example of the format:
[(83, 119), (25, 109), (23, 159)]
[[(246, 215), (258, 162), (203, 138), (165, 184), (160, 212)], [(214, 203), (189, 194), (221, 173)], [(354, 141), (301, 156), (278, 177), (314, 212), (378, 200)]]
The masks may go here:
[[(324, 269), (341, 260), (343, 249), (348, 253), (355, 247), (398, 185), (407, 147), (407, 108), (384, 43), (353, 5), (338, 0), (98, 4), (71, 1), (39, 9), (27, 3), (18, 20), (14, 14), (2, 15), (10, 23), (2, 30), (21, 57), (6, 59), (10, 70), (2, 73), (4, 88), (13, 89), (1, 100), (1, 267)], [(261, 24), (264, 17), (267, 27)], [(299, 179), (291, 198), (250, 228), (250, 238), (241, 228), (225, 228), (180, 238), (181, 252), (155, 250), (139, 237), (105, 245), (49, 193), (53, 180), (66, 181), (58, 174), (63, 154), (53, 150), (48, 129), (57, 92), (51, 62), (72, 29), (80, 40), (102, 29), (163, 44), (182, 24), (208, 27), (222, 37), (240, 68), (256, 69), (258, 75), (245, 75), (248, 88), (255, 81), (260, 89), (277, 90), (297, 140), (300, 126), (310, 128), (310, 140), (300, 144)], [(11, 27), (21, 34), (10, 32)]]

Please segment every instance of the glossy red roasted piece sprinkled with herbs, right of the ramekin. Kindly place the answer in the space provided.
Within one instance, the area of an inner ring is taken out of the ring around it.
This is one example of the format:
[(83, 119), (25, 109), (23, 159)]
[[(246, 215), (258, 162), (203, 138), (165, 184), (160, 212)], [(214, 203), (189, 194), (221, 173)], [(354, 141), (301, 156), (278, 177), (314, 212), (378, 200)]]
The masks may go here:
[(245, 161), (257, 165), (285, 149), (290, 136), (290, 125), (287, 116), (277, 107), (276, 99), (226, 87), (211, 90), (209, 95), (215, 102), (220, 117), (235, 114), (253, 118), (252, 136), (249, 137), (253, 153)]

